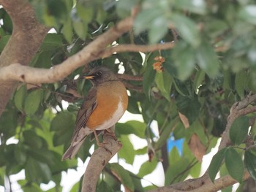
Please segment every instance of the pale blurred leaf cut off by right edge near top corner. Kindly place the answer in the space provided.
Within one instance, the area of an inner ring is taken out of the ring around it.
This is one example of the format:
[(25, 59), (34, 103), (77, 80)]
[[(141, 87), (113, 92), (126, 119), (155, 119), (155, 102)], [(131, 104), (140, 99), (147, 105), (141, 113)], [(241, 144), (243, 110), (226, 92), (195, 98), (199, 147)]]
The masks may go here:
[(253, 25), (256, 25), (256, 5), (246, 5), (243, 7), (239, 12), (238, 16), (242, 20), (245, 20), (248, 23), (252, 23)]

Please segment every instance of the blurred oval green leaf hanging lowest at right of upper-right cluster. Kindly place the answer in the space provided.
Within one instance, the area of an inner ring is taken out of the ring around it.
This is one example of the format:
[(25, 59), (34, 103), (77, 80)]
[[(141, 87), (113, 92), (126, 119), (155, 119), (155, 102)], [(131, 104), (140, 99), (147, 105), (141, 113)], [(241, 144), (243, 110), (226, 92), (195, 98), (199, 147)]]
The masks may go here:
[(200, 68), (210, 77), (217, 75), (219, 72), (219, 61), (213, 48), (208, 43), (204, 42), (197, 48), (196, 58)]

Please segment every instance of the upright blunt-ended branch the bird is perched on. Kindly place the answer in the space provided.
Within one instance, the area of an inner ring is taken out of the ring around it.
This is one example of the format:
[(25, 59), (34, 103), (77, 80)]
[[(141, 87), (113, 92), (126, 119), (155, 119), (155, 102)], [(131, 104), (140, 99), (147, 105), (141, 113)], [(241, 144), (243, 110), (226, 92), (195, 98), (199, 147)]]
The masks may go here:
[[(113, 130), (113, 128), (111, 128)], [(82, 192), (94, 192), (96, 191), (97, 181), (99, 179), (99, 174), (102, 169), (110, 161), (110, 159), (115, 155), (118, 150), (121, 149), (121, 143), (113, 139), (108, 131), (105, 131), (103, 135), (103, 141), (105, 148), (99, 147), (91, 155), (88, 166), (86, 167), (86, 172), (83, 177), (83, 188)]]

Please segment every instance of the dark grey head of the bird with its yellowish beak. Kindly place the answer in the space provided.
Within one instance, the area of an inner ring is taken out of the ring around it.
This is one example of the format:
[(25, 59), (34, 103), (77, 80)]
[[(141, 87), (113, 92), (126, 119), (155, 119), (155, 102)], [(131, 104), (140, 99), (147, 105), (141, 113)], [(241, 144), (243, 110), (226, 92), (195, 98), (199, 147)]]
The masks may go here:
[(93, 85), (98, 85), (102, 82), (108, 82), (111, 80), (118, 80), (116, 74), (114, 74), (110, 69), (105, 66), (96, 66), (89, 74), (84, 76), (86, 80), (90, 80)]

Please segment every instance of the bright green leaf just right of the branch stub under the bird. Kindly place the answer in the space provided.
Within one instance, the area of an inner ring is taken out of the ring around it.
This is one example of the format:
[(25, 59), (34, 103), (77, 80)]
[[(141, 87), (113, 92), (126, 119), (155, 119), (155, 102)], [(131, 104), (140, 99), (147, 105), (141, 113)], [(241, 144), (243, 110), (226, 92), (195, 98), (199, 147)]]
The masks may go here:
[[(118, 151), (119, 158), (124, 158), (124, 161), (127, 164), (133, 164), (133, 161), (135, 159), (135, 150), (133, 148), (132, 143), (129, 140), (129, 137), (127, 135), (121, 135), (121, 137), (118, 138), (121, 141), (121, 144), (123, 147), (121, 150)], [(129, 153), (127, 153), (129, 151)]]

